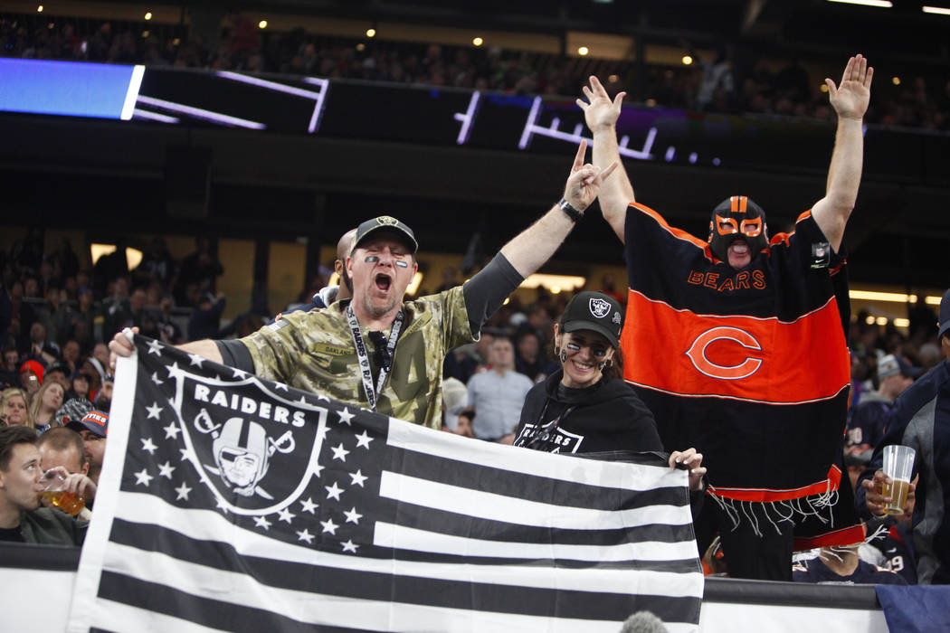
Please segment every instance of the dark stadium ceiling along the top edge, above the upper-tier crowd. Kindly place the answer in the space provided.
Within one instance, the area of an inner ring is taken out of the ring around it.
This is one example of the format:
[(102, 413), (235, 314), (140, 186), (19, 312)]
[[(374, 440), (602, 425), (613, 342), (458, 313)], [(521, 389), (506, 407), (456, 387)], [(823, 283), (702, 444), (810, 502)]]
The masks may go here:
[[(0, 3), (0, 6), (8, 3)], [(23, 3), (19, 3), (23, 4)], [(864, 52), (891, 60), (950, 65), (950, 0), (892, 0), (867, 7), (828, 0), (124, 0), (124, 6), (396, 21), (440, 27), (557, 34), (647, 34), (684, 45), (754, 47), (786, 54)], [(104, 5), (100, 5), (104, 6)], [(877, 55), (875, 55), (877, 53)]]

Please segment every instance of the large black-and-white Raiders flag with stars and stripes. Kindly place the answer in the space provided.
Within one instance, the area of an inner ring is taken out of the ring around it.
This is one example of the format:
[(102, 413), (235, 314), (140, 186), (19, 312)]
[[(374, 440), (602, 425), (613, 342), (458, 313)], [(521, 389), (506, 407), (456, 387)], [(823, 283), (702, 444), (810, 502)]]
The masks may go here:
[(694, 631), (686, 474), (440, 433), (141, 336), (69, 630)]

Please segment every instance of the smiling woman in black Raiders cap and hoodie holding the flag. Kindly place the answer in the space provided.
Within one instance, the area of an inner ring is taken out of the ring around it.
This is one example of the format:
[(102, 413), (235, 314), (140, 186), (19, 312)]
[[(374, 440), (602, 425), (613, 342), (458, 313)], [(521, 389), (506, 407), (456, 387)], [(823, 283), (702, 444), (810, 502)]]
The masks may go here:
[[(585, 291), (571, 299), (554, 330), (561, 369), (528, 392), (515, 446), (620, 461), (666, 460), (653, 414), (618, 378), (622, 326), (623, 308), (613, 297)], [(702, 459), (691, 448), (675, 451), (668, 463), (689, 469), (690, 488), (701, 490)]]

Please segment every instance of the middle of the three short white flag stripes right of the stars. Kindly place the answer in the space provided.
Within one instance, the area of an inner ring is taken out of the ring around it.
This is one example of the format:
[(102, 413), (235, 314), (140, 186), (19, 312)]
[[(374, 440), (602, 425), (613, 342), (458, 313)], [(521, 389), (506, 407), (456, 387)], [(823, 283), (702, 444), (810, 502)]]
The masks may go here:
[[(673, 473), (672, 469), (668, 470)], [(561, 530), (623, 530), (664, 523), (671, 526), (688, 525), (692, 522), (686, 506), (645, 506), (631, 510), (574, 508), (485, 493), (389, 471), (383, 471), (379, 495), (492, 521)]]

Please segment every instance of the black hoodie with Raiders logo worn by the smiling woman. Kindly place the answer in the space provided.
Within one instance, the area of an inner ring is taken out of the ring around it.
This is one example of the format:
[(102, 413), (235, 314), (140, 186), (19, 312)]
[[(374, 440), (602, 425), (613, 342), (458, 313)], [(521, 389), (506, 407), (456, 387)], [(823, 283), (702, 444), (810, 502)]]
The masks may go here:
[[(563, 369), (539, 382), (524, 399), (515, 446), (548, 453), (663, 453), (656, 421), (633, 388), (604, 377), (583, 389), (561, 385)], [(539, 432), (540, 429), (540, 432)], [(664, 461), (665, 463), (665, 461)]]

